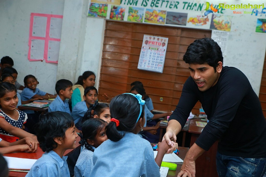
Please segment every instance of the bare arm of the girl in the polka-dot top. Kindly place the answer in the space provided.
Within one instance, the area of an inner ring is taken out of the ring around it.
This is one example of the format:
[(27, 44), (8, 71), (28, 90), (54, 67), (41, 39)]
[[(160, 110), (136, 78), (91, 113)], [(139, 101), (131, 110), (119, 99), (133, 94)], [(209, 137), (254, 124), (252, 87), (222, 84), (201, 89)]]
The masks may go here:
[(0, 117), (0, 128), (8, 132), (9, 134), (13, 136), (17, 136), (19, 138), (26, 138), (30, 137), (32, 138), (36, 143), (38, 143), (37, 136), (26, 132), (18, 127), (12, 126), (10, 123), (8, 123), (4, 118)]

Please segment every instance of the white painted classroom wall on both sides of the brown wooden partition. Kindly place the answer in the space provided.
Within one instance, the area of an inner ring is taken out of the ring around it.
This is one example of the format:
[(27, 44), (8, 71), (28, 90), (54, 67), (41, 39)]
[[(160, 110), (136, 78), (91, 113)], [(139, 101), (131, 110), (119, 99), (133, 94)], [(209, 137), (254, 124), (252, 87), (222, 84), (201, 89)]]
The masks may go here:
[[(105, 20), (86, 17), (88, 0), (1, 0), (0, 1), (0, 57), (9, 55), (18, 70), (18, 81), (23, 83), (27, 74), (35, 75), (41, 90), (54, 93), (55, 82), (66, 78), (73, 83), (86, 70), (96, 74), (98, 87), (101, 66)], [(201, 1), (200, 1), (201, 2)], [(217, 3), (223, 3), (217, 1)], [(231, 4), (246, 3), (232, 0)], [(214, 2), (216, 3), (216, 2)], [(261, 4), (263, 1), (252, 1)], [(266, 5), (265, 5), (266, 7)], [(64, 15), (59, 63), (28, 61), (30, 13)], [(255, 33), (255, 15), (234, 15), (232, 29), (224, 56), (224, 65), (239, 68), (246, 74), (257, 95), (259, 94), (266, 49), (266, 34)]]

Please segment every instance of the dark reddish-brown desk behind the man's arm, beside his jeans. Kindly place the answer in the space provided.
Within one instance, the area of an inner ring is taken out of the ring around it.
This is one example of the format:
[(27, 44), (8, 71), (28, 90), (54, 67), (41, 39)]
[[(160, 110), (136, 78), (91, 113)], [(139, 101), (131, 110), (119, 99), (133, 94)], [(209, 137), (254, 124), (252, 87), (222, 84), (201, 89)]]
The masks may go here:
[[(190, 147), (195, 143), (197, 138), (201, 134), (203, 127), (198, 127), (196, 121), (202, 121), (200, 118), (194, 118), (190, 120), (188, 132), (191, 133)], [(196, 160), (196, 176), (211, 176), (218, 177), (216, 170), (216, 153), (217, 153), (218, 141), (216, 141), (209, 151), (205, 151), (200, 157)]]

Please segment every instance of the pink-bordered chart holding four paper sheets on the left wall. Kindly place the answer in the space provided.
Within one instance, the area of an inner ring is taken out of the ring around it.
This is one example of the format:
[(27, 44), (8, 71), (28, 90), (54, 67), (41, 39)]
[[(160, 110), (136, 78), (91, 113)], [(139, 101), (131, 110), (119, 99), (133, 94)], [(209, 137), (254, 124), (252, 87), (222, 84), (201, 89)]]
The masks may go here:
[(28, 60), (58, 63), (63, 16), (31, 13)]

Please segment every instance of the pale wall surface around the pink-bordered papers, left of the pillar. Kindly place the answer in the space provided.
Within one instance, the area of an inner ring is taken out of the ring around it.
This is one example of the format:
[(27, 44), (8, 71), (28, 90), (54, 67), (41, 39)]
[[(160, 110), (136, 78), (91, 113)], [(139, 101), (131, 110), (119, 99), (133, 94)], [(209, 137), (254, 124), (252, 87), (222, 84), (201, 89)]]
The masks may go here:
[(18, 71), (18, 82), (22, 85), (26, 75), (34, 75), (38, 88), (54, 94), (57, 64), (28, 60), (30, 14), (63, 15), (64, 0), (1, 0), (0, 1), (0, 58), (10, 56)]

